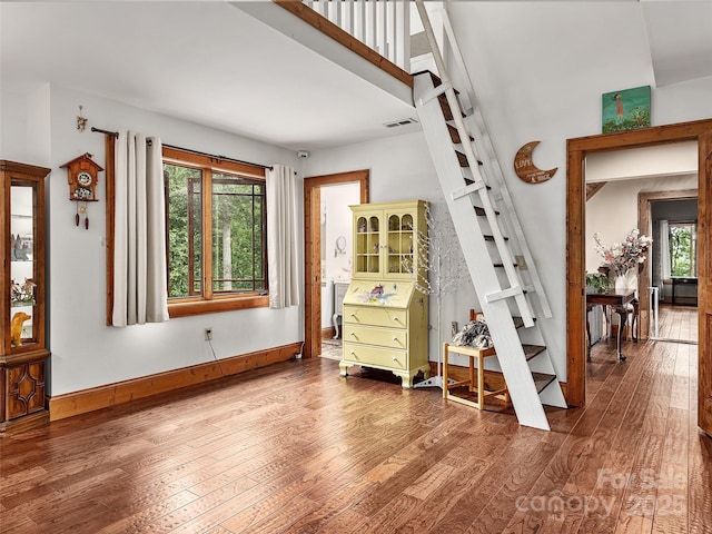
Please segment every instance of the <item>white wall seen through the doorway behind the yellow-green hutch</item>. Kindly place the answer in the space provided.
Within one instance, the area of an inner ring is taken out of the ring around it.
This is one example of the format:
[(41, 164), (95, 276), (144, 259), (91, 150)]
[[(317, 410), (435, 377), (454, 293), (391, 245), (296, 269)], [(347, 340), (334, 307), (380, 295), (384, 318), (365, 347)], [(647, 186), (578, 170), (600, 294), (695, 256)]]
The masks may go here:
[[(333, 326), (334, 281), (350, 281), (354, 259), (353, 214), (348, 209), (360, 204), (359, 184), (339, 184), (323, 186), (322, 216), (326, 218), (322, 234), (322, 246), (325, 250), (325, 273), (322, 278), (322, 328)], [(344, 237), (345, 254), (335, 254), (336, 239)]]

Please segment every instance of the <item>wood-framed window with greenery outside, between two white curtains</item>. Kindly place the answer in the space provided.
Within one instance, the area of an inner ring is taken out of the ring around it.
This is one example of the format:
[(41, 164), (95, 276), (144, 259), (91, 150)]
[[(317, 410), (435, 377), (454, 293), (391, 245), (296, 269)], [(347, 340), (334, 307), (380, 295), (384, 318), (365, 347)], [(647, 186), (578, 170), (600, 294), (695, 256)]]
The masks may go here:
[(267, 306), (265, 170), (164, 148), (170, 316)]

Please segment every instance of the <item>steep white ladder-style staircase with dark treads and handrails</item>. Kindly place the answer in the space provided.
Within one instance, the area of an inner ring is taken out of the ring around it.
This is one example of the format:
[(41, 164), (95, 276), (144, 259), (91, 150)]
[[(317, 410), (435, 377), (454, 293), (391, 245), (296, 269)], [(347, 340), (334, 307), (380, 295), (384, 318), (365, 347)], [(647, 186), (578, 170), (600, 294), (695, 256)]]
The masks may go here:
[(552, 316), (502, 169), (487, 136), (455, 36), (443, 23), (466, 79), (462, 111), (423, 0), (416, 0), (439, 78), (416, 75), (414, 99), (443, 194), (497, 353), (520, 424), (550, 429), (543, 405), (566, 407), (532, 307)]

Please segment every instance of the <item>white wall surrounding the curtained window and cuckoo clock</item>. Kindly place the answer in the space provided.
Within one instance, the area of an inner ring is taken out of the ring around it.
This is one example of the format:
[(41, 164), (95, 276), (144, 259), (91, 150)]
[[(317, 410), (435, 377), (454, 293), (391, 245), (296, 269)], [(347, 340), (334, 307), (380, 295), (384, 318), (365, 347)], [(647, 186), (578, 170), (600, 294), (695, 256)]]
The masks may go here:
[[(4, 89), (4, 87), (3, 87)], [(49, 116), (29, 121), (26, 116), (37, 115), (28, 109), (37, 92), (23, 96), (21, 91), (3, 91), (3, 110), (16, 110), (17, 129), (2, 123), (4, 159), (18, 159), (52, 168), (48, 178), (48, 317), (49, 345), (52, 352), (50, 394), (61, 395), (113, 382), (166, 372), (212, 359), (202, 330), (211, 326), (212, 346), (218, 358), (300, 342), (304, 338), (304, 318), (299, 307), (286, 310), (267, 308), (176, 318), (165, 324), (112, 328), (106, 326), (106, 256), (105, 256), (105, 174), (100, 174), (99, 202), (89, 206), (89, 229), (75, 226), (75, 202), (68, 200), (66, 169), (59, 166), (90, 152), (103, 167), (103, 136), (88, 129), (76, 128), (78, 106), (91, 126), (108, 130), (131, 128), (148, 135), (158, 135), (166, 144), (221, 154), (263, 164), (285, 164), (299, 168), (296, 154), (210, 130), (165, 116), (85, 95), (60, 87), (51, 88), (46, 106)], [(28, 106), (24, 105), (27, 102)], [(7, 106), (7, 107), (6, 107)], [(37, 135), (17, 136), (24, 128), (40, 132), (44, 122), (50, 126), (51, 150), (33, 139)], [(38, 146), (40, 145), (40, 146)], [(47, 160), (36, 156), (49, 155)], [(39, 161), (38, 161), (39, 160)], [(301, 206), (303, 202), (298, 202)], [(299, 215), (301, 220), (303, 215)], [(301, 243), (303, 240), (300, 240)]]

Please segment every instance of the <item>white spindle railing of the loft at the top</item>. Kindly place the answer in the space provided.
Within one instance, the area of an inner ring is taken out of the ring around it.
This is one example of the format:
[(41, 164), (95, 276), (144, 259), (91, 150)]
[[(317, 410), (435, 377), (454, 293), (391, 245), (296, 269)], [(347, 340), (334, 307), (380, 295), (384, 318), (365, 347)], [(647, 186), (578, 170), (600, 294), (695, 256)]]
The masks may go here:
[(303, 0), (392, 63), (409, 71), (411, 6), (403, 0)]

